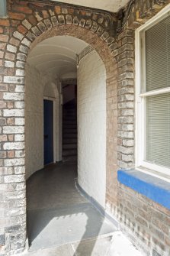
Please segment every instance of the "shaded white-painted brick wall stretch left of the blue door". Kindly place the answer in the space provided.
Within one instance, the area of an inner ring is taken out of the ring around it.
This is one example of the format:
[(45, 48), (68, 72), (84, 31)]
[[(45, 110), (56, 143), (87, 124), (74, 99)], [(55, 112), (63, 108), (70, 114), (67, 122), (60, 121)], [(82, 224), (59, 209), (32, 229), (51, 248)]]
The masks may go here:
[(43, 81), (35, 68), (26, 68), (25, 164), (26, 177), (43, 168)]

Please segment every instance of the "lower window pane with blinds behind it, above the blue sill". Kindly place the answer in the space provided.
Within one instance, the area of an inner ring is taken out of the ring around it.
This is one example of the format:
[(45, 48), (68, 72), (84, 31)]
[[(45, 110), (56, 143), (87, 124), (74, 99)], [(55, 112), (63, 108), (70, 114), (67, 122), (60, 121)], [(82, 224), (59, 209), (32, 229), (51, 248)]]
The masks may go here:
[(146, 160), (170, 167), (170, 93), (146, 98)]

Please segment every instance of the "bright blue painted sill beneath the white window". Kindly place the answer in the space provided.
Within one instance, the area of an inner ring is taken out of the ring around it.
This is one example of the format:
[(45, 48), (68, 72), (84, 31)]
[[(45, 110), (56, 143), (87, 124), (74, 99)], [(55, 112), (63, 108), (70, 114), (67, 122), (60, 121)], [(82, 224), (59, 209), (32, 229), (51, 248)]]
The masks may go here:
[(170, 183), (137, 170), (118, 170), (117, 180), (170, 209)]

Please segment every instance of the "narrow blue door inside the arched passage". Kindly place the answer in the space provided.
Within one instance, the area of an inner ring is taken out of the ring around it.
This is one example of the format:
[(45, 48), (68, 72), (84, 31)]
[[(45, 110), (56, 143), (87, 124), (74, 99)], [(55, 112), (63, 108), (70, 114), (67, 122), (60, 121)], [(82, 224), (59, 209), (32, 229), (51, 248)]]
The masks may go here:
[(44, 165), (53, 163), (53, 101), (43, 100)]

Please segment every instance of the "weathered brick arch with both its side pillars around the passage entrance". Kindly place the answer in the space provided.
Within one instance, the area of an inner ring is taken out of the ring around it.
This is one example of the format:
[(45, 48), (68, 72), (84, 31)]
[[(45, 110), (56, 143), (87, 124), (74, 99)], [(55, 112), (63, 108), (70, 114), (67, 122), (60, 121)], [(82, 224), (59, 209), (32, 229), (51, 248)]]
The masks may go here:
[[(11, 6), (13, 5), (13, 7)], [(1, 35), (4, 61), (0, 76), (4, 92), (2, 180), (8, 193), (4, 219), (5, 253), (22, 251), (27, 241), (24, 166), (24, 76), (27, 55), (40, 41), (70, 35), (90, 44), (103, 60), (107, 92), (107, 180), (106, 198), (116, 203), (117, 186), (117, 42), (111, 36), (110, 15), (44, 3), (9, 1), (9, 18), (0, 21), (7, 33)], [(13, 8), (13, 9), (12, 9)], [(12, 11), (14, 10), (14, 11)], [(13, 195), (10, 199), (10, 195)]]

